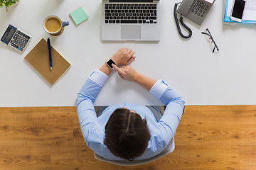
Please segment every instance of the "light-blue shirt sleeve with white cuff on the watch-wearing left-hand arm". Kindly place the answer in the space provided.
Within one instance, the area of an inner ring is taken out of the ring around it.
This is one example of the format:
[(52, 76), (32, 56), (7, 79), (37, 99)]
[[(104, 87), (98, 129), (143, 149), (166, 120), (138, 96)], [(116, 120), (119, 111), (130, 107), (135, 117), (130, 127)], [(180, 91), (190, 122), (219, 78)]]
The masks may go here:
[(107, 74), (100, 70), (95, 70), (82, 86), (82, 89), (78, 92), (77, 113), (85, 142), (87, 142), (90, 135), (92, 124), (97, 119), (93, 103), (106, 80)]

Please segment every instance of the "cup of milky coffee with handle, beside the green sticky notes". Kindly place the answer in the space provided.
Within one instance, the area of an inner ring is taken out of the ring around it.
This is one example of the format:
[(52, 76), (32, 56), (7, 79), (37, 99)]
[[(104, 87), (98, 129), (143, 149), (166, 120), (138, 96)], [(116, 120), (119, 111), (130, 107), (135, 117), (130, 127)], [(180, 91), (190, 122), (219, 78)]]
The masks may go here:
[(43, 21), (43, 29), (51, 35), (58, 35), (63, 27), (68, 26), (68, 21), (61, 21), (58, 16), (48, 16)]

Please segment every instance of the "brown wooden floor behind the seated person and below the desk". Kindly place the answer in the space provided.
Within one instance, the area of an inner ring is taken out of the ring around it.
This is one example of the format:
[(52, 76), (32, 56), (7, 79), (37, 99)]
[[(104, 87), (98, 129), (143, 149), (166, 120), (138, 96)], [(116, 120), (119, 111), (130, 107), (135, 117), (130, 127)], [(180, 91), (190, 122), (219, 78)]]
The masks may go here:
[(75, 107), (0, 108), (0, 169), (256, 169), (256, 106), (186, 106), (171, 154), (143, 166), (100, 162)]

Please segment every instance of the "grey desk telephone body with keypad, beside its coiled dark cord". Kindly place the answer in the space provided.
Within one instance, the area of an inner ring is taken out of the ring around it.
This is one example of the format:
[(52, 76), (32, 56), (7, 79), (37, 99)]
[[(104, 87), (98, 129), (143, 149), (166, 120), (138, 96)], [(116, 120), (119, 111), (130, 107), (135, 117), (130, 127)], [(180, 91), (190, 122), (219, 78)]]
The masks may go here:
[(183, 0), (177, 12), (201, 25), (215, 0)]

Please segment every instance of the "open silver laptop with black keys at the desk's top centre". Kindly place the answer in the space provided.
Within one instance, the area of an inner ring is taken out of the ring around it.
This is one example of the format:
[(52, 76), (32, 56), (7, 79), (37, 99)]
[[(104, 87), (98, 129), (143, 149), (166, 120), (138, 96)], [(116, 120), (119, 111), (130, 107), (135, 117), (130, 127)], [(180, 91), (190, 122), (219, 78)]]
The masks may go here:
[(159, 0), (102, 0), (102, 40), (159, 41)]

